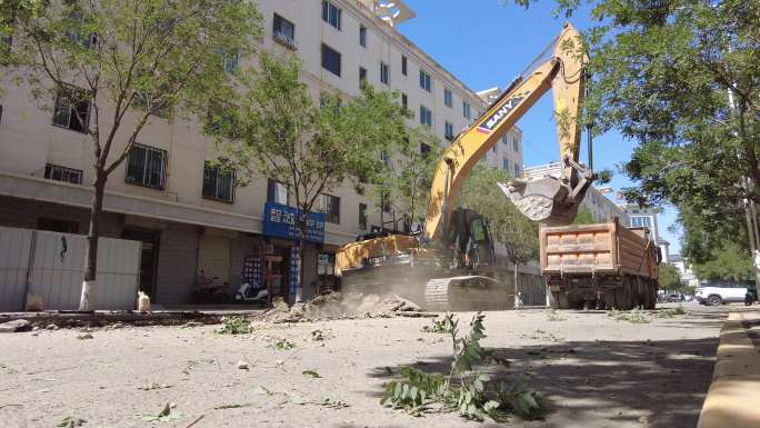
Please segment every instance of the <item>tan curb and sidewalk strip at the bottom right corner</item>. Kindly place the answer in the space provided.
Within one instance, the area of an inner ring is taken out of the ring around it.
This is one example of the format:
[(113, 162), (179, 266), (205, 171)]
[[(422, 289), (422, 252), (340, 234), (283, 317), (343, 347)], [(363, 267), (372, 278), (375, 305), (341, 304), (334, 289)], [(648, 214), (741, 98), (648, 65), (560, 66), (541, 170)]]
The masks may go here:
[(733, 307), (720, 331), (698, 428), (760, 427), (760, 307)]

